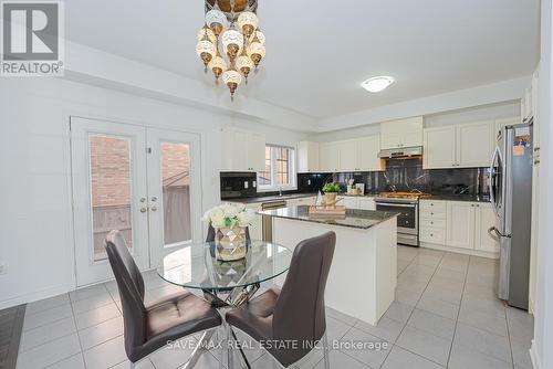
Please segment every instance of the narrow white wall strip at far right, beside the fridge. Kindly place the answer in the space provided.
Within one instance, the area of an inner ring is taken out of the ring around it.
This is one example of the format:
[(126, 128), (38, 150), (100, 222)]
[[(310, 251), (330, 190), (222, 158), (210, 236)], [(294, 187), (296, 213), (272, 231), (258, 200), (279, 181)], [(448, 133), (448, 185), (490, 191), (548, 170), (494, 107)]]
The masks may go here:
[(538, 288), (534, 314), (534, 341), (531, 357), (535, 369), (553, 368), (553, 129), (551, 86), (553, 84), (552, 1), (542, 1), (541, 60), (540, 60), (540, 224), (538, 241)]

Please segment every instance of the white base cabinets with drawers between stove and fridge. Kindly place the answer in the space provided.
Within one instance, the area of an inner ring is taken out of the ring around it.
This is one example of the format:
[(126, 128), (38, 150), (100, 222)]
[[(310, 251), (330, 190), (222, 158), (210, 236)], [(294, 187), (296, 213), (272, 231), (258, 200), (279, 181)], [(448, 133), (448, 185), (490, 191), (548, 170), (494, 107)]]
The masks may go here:
[(499, 244), (488, 234), (495, 225), (491, 203), (420, 200), (419, 219), (422, 246), (499, 256)]

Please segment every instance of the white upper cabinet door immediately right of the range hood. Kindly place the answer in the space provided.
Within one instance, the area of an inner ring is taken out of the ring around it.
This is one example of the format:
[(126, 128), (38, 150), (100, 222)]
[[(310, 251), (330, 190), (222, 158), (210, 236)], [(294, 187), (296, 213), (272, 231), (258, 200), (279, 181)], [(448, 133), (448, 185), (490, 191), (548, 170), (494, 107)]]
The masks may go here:
[(424, 136), (422, 167), (425, 169), (456, 166), (455, 126), (427, 128)]

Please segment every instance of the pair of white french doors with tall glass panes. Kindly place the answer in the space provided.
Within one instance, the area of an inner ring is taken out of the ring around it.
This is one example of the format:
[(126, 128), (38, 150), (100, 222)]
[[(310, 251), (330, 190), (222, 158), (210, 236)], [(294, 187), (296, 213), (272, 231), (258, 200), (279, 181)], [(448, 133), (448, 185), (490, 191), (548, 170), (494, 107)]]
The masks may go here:
[(71, 118), (76, 284), (112, 277), (105, 235), (119, 230), (140, 270), (201, 238), (199, 137)]

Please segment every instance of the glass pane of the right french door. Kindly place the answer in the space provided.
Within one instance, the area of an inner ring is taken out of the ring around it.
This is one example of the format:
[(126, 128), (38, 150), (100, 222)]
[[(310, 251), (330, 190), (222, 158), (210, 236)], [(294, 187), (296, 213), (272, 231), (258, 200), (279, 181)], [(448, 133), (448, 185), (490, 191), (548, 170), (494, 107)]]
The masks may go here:
[(190, 226), (190, 146), (160, 144), (164, 244), (192, 239)]

